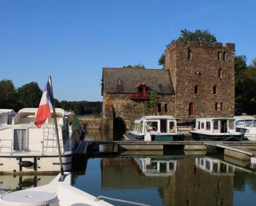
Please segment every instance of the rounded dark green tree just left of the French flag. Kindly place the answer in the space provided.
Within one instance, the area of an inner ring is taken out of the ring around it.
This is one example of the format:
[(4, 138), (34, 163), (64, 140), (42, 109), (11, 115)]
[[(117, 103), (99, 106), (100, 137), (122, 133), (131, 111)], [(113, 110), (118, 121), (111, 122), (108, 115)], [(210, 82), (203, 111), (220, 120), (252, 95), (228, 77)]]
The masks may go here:
[(37, 82), (30, 82), (18, 88), (18, 98), (21, 108), (38, 107), (42, 97), (42, 91)]

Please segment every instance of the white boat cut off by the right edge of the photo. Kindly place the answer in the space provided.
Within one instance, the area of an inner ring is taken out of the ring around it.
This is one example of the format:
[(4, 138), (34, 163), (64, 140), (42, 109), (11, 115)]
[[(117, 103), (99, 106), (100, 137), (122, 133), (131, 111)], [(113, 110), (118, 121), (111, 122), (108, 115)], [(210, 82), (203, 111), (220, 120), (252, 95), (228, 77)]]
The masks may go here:
[(234, 116), (237, 132), (244, 134), (245, 138), (256, 142), (256, 119), (253, 116)]

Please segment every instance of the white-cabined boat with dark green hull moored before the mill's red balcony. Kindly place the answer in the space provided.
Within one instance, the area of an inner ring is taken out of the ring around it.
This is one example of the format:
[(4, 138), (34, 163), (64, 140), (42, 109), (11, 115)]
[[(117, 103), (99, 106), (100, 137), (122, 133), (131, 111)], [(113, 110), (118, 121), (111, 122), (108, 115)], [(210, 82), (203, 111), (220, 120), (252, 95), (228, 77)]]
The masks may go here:
[(143, 116), (135, 120), (128, 133), (132, 138), (143, 141), (184, 140), (184, 134), (177, 132), (176, 119), (172, 116)]

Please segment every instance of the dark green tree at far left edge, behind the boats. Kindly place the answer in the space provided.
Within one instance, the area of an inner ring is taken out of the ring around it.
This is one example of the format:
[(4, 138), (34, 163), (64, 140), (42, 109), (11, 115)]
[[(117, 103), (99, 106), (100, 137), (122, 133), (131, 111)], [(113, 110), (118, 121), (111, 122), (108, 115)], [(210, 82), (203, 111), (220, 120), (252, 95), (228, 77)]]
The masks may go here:
[(0, 108), (19, 110), (17, 93), (12, 80), (0, 81)]

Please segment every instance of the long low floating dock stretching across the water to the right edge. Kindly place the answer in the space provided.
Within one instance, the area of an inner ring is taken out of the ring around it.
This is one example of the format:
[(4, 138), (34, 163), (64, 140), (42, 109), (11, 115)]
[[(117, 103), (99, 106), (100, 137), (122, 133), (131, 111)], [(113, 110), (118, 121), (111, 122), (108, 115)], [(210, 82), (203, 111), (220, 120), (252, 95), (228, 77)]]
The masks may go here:
[(87, 155), (89, 153), (129, 153), (131, 151), (147, 151), (158, 153), (168, 148), (183, 148), (185, 153), (191, 155), (206, 155), (207, 148), (223, 149), (224, 155), (239, 160), (250, 161), (256, 164), (256, 142), (217, 142), (217, 141), (80, 141), (75, 153)]

